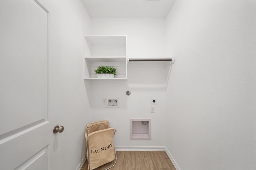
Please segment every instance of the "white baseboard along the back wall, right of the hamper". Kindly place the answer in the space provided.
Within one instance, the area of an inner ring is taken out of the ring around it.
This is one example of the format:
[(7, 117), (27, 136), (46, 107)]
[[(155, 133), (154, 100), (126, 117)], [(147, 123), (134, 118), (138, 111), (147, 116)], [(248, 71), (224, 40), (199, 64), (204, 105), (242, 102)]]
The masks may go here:
[(154, 151), (166, 150), (166, 147), (115, 147), (116, 151)]

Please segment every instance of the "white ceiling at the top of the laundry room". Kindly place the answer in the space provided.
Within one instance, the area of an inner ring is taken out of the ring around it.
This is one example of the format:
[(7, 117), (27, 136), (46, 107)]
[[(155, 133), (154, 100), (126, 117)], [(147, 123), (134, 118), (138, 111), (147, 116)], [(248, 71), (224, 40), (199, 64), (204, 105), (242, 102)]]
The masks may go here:
[(166, 18), (175, 0), (81, 0), (91, 18)]

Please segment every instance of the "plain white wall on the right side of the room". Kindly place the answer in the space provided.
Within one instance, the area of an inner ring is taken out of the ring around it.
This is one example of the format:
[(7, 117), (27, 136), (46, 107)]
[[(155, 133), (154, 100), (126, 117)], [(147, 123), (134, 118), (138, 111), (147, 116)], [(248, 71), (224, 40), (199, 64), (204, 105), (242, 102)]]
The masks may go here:
[(166, 146), (182, 170), (256, 169), (256, 1), (176, 0)]

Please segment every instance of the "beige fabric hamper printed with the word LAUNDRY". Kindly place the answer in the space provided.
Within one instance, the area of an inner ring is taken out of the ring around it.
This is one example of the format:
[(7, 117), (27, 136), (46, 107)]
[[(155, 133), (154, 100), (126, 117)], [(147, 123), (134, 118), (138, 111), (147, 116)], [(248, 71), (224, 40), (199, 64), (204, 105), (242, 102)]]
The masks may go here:
[(98, 121), (87, 125), (85, 138), (88, 170), (93, 170), (113, 160), (115, 160), (114, 165), (116, 164), (116, 150), (113, 142), (115, 133), (116, 129), (110, 127), (108, 121)]

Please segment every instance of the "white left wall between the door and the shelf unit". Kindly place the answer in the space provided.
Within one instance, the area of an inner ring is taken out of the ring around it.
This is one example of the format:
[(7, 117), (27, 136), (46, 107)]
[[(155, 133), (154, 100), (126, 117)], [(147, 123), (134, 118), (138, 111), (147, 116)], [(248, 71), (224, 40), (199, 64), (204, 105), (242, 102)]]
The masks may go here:
[(82, 75), (84, 35), (90, 31), (90, 17), (80, 0), (61, 1), (61, 91), (64, 126), (61, 138), (61, 169), (75, 170), (85, 156), (84, 130), (90, 123), (90, 106)]

